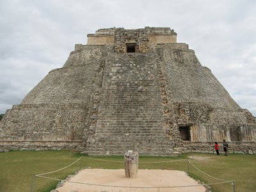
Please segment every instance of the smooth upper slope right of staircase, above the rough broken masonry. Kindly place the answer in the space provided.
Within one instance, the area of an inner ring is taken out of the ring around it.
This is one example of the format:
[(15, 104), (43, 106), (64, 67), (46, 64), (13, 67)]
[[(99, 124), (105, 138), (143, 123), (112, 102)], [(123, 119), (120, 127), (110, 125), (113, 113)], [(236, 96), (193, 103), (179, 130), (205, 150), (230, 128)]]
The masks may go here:
[(211, 71), (202, 67), (194, 51), (165, 45), (157, 52), (173, 102), (195, 101), (227, 110), (240, 109)]

